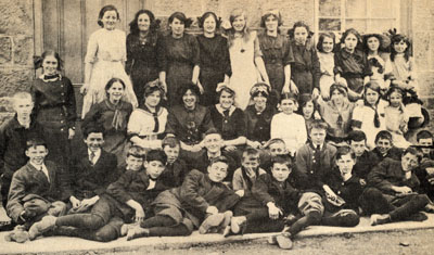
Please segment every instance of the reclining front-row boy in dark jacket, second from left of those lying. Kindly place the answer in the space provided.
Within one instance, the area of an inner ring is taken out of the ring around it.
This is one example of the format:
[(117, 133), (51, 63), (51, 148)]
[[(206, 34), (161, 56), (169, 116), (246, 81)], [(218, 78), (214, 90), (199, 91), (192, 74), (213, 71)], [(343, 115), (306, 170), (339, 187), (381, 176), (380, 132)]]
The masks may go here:
[(158, 194), (152, 203), (154, 216), (141, 222), (140, 227), (129, 229), (127, 239), (190, 235), (195, 228), (200, 228), (201, 233), (213, 227), (225, 229), (232, 215), (228, 209), (239, 200), (222, 183), (228, 167), (228, 160), (217, 156), (210, 160), (207, 174), (191, 170), (181, 187)]

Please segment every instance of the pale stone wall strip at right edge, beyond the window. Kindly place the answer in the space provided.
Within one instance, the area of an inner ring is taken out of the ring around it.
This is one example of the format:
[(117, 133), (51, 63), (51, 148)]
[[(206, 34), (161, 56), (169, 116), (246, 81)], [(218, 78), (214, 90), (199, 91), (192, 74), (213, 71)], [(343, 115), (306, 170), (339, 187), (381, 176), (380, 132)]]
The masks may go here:
[(421, 97), (434, 109), (434, 1), (412, 1), (412, 38)]

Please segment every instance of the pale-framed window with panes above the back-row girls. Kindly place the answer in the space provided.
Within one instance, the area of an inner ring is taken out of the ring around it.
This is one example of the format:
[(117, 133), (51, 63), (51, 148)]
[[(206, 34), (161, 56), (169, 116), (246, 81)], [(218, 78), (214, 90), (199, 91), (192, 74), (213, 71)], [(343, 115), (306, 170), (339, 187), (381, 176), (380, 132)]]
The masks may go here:
[(315, 0), (315, 30), (342, 34), (356, 28), (360, 34), (399, 30), (396, 0)]

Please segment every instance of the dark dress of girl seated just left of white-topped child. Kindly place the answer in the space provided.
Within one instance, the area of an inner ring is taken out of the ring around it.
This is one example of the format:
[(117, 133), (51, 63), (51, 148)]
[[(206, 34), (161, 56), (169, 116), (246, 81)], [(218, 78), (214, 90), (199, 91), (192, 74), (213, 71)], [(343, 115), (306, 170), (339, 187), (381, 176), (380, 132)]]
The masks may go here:
[(247, 139), (258, 142), (270, 140), (271, 119), (276, 112), (273, 107), (267, 105), (264, 112), (258, 113), (255, 105), (248, 105), (244, 111)]

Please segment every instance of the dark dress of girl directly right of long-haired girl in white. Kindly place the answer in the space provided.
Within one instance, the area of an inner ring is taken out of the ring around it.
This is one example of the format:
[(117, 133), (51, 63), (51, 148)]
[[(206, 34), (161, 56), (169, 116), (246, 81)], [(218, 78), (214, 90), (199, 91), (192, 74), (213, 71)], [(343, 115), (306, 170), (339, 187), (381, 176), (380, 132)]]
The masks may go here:
[[(271, 89), (273, 94), (279, 97), (285, 81), (284, 67), (294, 62), (292, 48), (286, 37), (280, 34), (272, 37), (263, 33), (258, 36), (258, 39)], [(271, 102), (273, 105), (278, 103), (278, 99), (272, 101), (277, 101), (276, 103)]]

